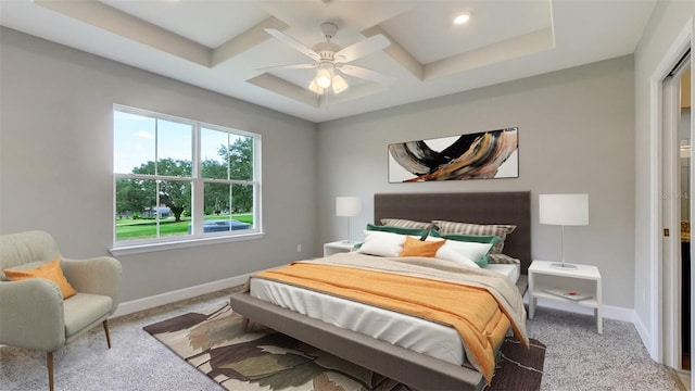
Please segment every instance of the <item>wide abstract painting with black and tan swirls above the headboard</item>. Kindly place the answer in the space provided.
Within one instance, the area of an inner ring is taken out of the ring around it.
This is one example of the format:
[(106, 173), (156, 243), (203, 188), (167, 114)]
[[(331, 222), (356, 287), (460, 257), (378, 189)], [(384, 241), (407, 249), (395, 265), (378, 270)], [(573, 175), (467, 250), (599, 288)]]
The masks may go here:
[(389, 144), (389, 182), (518, 178), (518, 128)]

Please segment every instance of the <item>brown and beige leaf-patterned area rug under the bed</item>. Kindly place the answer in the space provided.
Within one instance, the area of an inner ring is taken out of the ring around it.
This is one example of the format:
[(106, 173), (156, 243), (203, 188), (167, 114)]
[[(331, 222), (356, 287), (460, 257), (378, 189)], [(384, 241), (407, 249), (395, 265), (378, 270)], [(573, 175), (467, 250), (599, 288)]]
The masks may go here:
[[(271, 329), (252, 324), (242, 330), (228, 303), (143, 329), (227, 390), (412, 390)], [(544, 358), (538, 340), (527, 350), (508, 338), (485, 391), (539, 390)]]

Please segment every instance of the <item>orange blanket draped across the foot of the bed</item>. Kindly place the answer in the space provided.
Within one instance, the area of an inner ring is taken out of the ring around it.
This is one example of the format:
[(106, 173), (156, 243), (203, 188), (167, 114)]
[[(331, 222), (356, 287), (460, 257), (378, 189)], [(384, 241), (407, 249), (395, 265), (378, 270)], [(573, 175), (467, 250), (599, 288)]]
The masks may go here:
[(494, 374), (494, 349), (510, 323), (484, 288), (389, 273), (294, 263), (254, 277), (305, 287), (454, 327), (467, 357), (488, 383)]

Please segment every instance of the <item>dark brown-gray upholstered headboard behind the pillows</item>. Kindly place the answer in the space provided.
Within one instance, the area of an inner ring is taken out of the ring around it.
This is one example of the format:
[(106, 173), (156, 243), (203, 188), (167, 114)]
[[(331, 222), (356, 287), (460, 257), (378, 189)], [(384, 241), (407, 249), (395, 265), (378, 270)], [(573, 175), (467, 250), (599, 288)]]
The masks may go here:
[(521, 261), (521, 274), (531, 264), (531, 192), (376, 193), (374, 222), (406, 218), (475, 224), (511, 224), (503, 252)]

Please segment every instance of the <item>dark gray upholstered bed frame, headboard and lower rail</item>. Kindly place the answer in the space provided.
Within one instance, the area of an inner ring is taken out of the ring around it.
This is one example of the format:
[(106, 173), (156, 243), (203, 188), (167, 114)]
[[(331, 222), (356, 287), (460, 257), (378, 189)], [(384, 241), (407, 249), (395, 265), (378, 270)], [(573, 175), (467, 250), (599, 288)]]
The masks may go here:
[[(375, 224), (381, 218), (420, 222), (443, 219), (477, 224), (513, 224), (517, 229), (505, 240), (504, 253), (521, 261), (517, 287), (526, 291), (531, 263), (531, 193), (377, 193)], [(481, 390), (485, 382), (476, 369), (454, 365), (412, 350), (341, 329), (321, 320), (235, 293), (235, 312), (323, 351), (353, 362), (391, 379), (421, 390)]]

